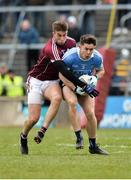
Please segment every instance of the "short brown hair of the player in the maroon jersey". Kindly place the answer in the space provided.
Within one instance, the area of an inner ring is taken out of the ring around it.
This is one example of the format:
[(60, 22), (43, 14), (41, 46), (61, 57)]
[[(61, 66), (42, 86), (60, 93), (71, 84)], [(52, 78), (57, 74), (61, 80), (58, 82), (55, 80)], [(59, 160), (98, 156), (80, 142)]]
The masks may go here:
[(55, 21), (52, 24), (52, 30), (54, 31), (68, 31), (68, 24), (63, 21)]

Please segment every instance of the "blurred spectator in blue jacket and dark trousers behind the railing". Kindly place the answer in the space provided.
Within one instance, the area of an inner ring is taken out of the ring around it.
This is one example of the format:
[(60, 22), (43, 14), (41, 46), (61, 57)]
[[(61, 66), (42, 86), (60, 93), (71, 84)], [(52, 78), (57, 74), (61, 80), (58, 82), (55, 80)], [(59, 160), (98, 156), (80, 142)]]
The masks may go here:
[[(21, 23), (21, 30), (18, 35), (18, 40), (20, 43), (25, 43), (27, 45), (39, 43), (39, 33), (38, 31), (31, 26), (28, 20), (23, 20)], [(26, 53), (26, 63), (27, 63), (27, 71), (29, 71), (39, 56), (38, 49), (27, 49)]]

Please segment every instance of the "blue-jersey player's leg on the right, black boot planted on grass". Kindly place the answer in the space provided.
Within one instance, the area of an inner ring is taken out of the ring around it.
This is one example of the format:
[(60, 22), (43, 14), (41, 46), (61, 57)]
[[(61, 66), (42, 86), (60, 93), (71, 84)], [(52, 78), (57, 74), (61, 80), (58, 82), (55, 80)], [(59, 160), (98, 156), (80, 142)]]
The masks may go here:
[(79, 103), (83, 108), (87, 122), (87, 133), (89, 136), (89, 152), (92, 154), (103, 154), (107, 155), (108, 153), (96, 144), (96, 131), (97, 131), (97, 120), (95, 116), (95, 99), (89, 96), (81, 96), (79, 98)]

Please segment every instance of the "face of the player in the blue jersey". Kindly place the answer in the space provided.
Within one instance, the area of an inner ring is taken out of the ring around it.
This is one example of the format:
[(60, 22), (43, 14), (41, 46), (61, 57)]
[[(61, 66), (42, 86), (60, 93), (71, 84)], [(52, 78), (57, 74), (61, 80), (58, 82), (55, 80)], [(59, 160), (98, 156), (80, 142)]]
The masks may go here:
[(89, 59), (95, 47), (93, 44), (80, 45), (80, 57), (85, 60)]

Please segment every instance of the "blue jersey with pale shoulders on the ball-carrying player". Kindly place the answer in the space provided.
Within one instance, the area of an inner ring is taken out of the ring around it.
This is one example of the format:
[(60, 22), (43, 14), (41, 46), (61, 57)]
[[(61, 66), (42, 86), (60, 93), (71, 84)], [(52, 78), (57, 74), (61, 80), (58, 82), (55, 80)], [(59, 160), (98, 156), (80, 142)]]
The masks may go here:
[(95, 70), (103, 68), (103, 58), (97, 50), (93, 51), (89, 59), (84, 60), (80, 57), (79, 47), (75, 47), (64, 54), (63, 61), (76, 77), (84, 74), (93, 75)]

